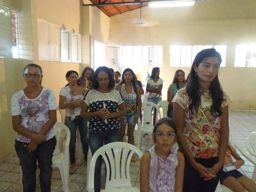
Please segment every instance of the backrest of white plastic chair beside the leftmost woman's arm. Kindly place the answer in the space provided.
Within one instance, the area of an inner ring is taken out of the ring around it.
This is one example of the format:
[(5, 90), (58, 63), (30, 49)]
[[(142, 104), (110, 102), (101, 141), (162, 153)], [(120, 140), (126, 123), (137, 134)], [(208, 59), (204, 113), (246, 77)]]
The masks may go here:
[[(65, 137), (63, 137), (63, 132), (62, 132), (63, 130), (66, 131)], [(55, 147), (53, 154), (57, 155), (57, 154), (62, 153), (62, 144), (63, 144), (64, 140), (66, 140), (64, 153), (69, 154), (70, 130), (68, 129), (68, 127), (66, 125), (64, 125), (60, 122), (56, 122), (54, 124), (54, 131), (55, 131), (57, 143), (56, 143), (56, 147)]]

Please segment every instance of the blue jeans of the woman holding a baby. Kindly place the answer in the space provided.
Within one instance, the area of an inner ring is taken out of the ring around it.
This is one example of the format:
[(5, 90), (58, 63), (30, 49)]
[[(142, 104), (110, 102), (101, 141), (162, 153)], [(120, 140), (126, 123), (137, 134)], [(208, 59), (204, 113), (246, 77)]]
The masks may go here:
[(76, 119), (71, 121), (71, 117), (65, 117), (65, 125), (70, 130), (70, 143), (69, 143), (69, 156), (70, 164), (76, 163), (75, 150), (76, 150), (76, 129), (78, 128), (80, 132), (80, 139), (84, 151), (84, 160), (87, 161), (88, 154), (88, 128), (87, 128), (87, 119), (81, 118), (80, 115), (76, 116)]

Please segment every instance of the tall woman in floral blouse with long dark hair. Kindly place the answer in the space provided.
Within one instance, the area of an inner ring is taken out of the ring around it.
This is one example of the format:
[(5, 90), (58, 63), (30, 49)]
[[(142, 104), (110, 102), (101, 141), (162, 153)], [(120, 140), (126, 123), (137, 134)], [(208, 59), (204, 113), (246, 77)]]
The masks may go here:
[(185, 155), (184, 192), (214, 192), (228, 146), (228, 104), (218, 70), (221, 56), (214, 48), (200, 51), (192, 64), (188, 85), (174, 103), (174, 122)]

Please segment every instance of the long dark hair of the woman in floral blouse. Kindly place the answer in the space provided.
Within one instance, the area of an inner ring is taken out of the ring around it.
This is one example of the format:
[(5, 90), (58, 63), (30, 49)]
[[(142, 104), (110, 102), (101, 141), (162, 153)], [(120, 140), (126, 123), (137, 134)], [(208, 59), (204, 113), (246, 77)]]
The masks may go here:
[[(188, 98), (191, 100), (191, 103), (188, 106), (188, 110), (192, 114), (194, 114), (195, 111), (198, 111), (198, 107), (201, 102), (201, 92), (202, 92), (202, 90), (200, 90), (200, 87), (199, 87), (198, 76), (196, 75), (194, 66), (199, 66), (200, 63), (202, 63), (204, 60), (210, 57), (217, 57), (220, 63), (222, 62), (220, 53), (217, 52), (216, 49), (214, 48), (204, 49), (196, 55), (189, 73), (188, 85), (186, 86), (186, 90), (188, 93)], [(221, 116), (222, 112), (220, 108), (221, 108), (222, 101), (224, 99), (223, 99), (223, 90), (220, 85), (218, 74), (210, 84), (210, 96), (212, 97), (211, 114), (216, 117)]]

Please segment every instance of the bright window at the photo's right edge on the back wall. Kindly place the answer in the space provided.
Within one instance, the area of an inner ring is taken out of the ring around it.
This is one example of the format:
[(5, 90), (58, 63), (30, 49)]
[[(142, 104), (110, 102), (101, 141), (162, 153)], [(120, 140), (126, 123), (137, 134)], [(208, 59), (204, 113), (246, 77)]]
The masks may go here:
[(236, 46), (235, 67), (256, 67), (256, 44)]

